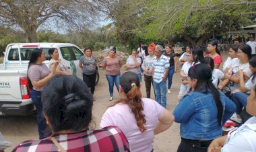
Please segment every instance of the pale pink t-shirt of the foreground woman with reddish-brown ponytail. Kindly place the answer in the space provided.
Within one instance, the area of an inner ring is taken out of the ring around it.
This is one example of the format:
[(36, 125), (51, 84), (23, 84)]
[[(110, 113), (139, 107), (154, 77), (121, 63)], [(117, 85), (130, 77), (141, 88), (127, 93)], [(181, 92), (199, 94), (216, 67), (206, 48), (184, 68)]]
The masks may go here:
[(127, 137), (131, 151), (152, 151), (154, 139), (154, 129), (158, 124), (158, 119), (162, 116), (164, 108), (156, 101), (142, 98), (143, 114), (146, 119), (146, 131), (141, 132), (137, 126), (134, 114), (127, 104), (116, 104), (108, 108), (103, 114), (100, 127), (117, 126)]

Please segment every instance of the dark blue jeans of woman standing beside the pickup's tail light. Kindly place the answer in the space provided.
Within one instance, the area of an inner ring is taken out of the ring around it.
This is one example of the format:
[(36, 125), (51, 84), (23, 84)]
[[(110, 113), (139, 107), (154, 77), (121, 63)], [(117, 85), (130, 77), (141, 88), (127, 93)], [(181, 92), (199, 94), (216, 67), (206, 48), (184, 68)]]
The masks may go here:
[(44, 131), (47, 128), (46, 120), (42, 115), (42, 102), (41, 102), (41, 91), (32, 89), (30, 98), (34, 106), (36, 106), (36, 123), (39, 132), (39, 139), (44, 139)]

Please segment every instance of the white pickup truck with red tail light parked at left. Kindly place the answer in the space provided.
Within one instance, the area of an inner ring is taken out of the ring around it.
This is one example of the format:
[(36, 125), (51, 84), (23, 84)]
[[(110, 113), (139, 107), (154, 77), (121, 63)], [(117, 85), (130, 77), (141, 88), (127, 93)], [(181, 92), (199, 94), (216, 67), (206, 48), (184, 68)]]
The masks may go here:
[(34, 104), (28, 89), (28, 62), (34, 48), (42, 48), (49, 64), (49, 48), (59, 50), (59, 59), (69, 67), (73, 75), (82, 79), (79, 58), (84, 55), (74, 44), (69, 43), (19, 43), (9, 44), (5, 49), (3, 64), (0, 64), (0, 116), (31, 114)]

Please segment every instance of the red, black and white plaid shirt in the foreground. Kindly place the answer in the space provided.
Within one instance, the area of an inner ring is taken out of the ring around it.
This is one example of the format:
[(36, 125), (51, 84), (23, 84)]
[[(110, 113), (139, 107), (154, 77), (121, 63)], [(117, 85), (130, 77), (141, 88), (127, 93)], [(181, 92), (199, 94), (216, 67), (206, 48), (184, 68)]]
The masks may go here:
[[(130, 151), (129, 143), (117, 126), (107, 126), (100, 130), (88, 130), (73, 134), (55, 135), (58, 143), (69, 152), (80, 151)], [(61, 151), (51, 138), (39, 141), (24, 141), (13, 151)]]

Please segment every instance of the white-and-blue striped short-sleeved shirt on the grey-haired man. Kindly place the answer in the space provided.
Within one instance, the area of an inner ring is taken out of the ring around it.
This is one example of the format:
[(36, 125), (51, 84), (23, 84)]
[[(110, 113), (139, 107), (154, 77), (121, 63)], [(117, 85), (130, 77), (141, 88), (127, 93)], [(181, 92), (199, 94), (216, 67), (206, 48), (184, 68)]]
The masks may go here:
[(169, 59), (164, 54), (161, 54), (159, 60), (154, 56), (152, 66), (154, 68), (153, 79), (156, 83), (160, 83), (162, 81), (162, 77), (164, 77), (166, 69), (170, 67)]

